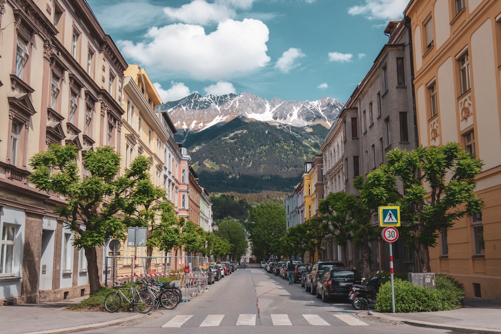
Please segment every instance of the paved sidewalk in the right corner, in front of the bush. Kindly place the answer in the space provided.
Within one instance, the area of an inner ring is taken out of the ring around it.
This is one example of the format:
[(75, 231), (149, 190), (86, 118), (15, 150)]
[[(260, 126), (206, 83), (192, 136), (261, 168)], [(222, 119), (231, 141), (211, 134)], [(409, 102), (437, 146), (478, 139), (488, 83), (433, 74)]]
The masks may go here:
[(378, 313), (369, 310), (360, 312), (359, 316), (463, 333), (501, 333), (501, 300), (465, 298), (463, 305), (463, 308), (438, 312)]

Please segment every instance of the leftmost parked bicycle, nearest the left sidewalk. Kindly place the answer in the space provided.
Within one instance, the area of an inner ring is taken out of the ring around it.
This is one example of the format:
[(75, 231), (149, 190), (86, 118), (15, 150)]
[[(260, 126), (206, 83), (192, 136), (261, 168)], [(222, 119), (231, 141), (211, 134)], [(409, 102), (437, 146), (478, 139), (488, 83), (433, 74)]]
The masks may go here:
[[(116, 312), (124, 299), (129, 303), (131, 309), (138, 313), (147, 314), (153, 308), (154, 296), (145, 291), (139, 291), (134, 287), (121, 288), (123, 284), (115, 282), (118, 290), (108, 293), (104, 298), (104, 308), (110, 312)], [(125, 292), (124, 292), (125, 291)]]

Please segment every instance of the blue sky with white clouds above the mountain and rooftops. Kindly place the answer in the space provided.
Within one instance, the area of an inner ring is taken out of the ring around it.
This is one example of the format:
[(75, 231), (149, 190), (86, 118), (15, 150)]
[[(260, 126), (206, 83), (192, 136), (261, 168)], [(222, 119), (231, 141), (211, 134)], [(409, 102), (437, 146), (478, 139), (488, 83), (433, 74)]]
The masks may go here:
[(163, 102), (194, 92), (346, 102), (408, 0), (87, 0)]

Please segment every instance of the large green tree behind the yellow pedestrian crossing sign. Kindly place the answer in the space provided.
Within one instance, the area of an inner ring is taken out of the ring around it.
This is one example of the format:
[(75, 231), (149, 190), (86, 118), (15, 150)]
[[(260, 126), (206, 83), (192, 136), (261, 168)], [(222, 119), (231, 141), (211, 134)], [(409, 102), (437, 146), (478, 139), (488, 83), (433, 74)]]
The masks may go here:
[(429, 272), (429, 247), (437, 244), (439, 233), (483, 207), (475, 194), (475, 177), (483, 163), (452, 142), (394, 149), (386, 158), (386, 165), (367, 175), (361, 197), (372, 206), (400, 206), (399, 232), (416, 255), (414, 270)]

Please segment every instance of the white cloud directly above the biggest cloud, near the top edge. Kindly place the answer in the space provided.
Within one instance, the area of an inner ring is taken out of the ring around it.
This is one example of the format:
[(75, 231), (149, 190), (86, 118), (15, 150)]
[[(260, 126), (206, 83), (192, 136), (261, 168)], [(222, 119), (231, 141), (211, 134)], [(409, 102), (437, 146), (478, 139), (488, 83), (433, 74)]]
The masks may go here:
[(165, 7), (163, 12), (170, 19), (199, 25), (218, 23), (221, 20), (235, 17), (235, 12), (226, 6), (208, 4), (205, 0), (194, 0), (180, 8)]

